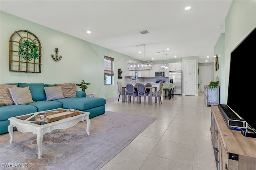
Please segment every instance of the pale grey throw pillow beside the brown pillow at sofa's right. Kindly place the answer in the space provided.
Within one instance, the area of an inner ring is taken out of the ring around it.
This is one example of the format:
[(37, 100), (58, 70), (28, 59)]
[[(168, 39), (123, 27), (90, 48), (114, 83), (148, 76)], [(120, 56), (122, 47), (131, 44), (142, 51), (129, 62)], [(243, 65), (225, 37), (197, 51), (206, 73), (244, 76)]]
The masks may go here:
[(46, 100), (64, 99), (62, 86), (44, 87)]

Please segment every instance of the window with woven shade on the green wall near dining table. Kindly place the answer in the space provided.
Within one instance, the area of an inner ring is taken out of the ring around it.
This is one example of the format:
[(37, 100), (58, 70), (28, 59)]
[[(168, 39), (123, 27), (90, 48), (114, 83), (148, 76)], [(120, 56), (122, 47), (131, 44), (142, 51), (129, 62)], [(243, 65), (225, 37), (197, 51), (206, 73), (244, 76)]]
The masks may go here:
[(104, 56), (104, 84), (114, 82), (114, 58)]

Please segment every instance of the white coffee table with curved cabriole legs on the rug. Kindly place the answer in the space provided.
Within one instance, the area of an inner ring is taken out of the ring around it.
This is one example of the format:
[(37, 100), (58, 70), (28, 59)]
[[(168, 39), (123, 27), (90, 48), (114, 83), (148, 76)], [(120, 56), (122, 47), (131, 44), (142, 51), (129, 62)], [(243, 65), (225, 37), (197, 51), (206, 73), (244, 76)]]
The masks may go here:
[[(47, 111), (56, 111), (61, 109), (62, 108), (47, 110)], [(67, 118), (50, 122), (50, 123), (35, 119), (36, 115), (42, 112), (46, 112), (46, 111), (39, 111), (36, 113), (30, 113), (27, 115), (10, 117), (8, 119), (10, 121), (10, 125), (8, 126), (8, 132), (10, 134), (10, 143), (12, 143), (14, 139), (13, 127), (16, 127), (18, 131), (22, 133), (32, 132), (33, 134), (36, 134), (37, 135), (36, 142), (38, 146), (38, 159), (40, 159), (42, 158), (43, 135), (45, 133), (50, 133), (51, 131), (56, 129), (67, 129), (69, 127), (76, 125), (80, 121), (86, 120), (87, 122), (86, 133), (90, 135), (89, 127), (90, 127), (91, 121), (89, 119), (89, 115), (90, 115), (89, 112), (79, 111), (79, 115), (67, 117)]]

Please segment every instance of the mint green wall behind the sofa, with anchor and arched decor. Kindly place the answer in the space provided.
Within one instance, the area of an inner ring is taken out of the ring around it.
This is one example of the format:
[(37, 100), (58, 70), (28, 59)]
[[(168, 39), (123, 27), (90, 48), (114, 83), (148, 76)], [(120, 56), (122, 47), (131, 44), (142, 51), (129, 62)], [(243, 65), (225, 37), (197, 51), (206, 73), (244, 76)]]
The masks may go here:
[[(118, 96), (117, 86), (104, 86), (104, 55), (114, 58), (114, 83), (118, 79), (118, 68), (124, 70), (124, 60), (132, 59), (110, 49), (83, 41), (65, 33), (24, 20), (6, 12), (0, 13), (0, 83), (80, 83), (83, 79), (91, 83), (86, 92), (97, 97)], [(34, 33), (42, 44), (42, 72), (24, 73), (9, 71), (9, 39), (14, 31), (28, 30)], [(62, 59), (56, 62), (51, 55), (58, 48)], [(81, 90), (76, 86), (77, 90)]]

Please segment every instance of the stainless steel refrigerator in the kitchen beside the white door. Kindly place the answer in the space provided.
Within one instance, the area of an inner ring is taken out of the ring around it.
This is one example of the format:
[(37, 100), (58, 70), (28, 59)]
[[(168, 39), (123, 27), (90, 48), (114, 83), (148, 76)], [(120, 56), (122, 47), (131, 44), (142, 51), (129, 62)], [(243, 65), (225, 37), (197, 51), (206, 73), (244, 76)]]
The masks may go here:
[(169, 71), (169, 83), (173, 84), (174, 94), (182, 95), (182, 71)]

